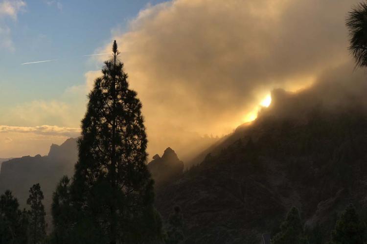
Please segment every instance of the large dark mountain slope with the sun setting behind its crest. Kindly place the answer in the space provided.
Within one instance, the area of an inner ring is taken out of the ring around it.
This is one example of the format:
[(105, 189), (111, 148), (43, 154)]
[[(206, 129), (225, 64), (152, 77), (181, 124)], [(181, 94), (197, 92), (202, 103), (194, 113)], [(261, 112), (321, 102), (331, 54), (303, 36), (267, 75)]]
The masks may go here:
[(252, 124), (238, 127), (209, 148), (201, 164), (158, 189), (164, 219), (174, 206), (182, 208), (185, 243), (258, 244), (292, 206), (305, 228), (319, 233), (315, 243), (328, 241), (347, 203), (367, 217), (365, 107), (331, 106), (315, 90), (275, 90), (272, 99)]

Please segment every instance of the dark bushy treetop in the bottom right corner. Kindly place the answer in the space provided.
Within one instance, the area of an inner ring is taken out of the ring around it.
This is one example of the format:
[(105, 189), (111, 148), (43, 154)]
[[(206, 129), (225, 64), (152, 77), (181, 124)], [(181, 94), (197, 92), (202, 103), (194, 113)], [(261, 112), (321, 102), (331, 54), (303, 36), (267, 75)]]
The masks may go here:
[(364, 244), (366, 234), (366, 224), (359, 220), (354, 206), (350, 204), (338, 218), (331, 232), (330, 244)]

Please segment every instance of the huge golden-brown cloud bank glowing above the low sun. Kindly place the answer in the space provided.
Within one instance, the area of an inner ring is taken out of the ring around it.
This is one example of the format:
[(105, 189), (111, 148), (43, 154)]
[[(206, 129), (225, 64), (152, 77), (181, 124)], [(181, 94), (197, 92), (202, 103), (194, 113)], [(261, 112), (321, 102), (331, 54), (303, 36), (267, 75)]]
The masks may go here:
[[(324, 70), (352, 62), (344, 21), (356, 2), (148, 5), (127, 32), (114, 30), (111, 40), (117, 40), (130, 85), (142, 101), (149, 145), (181, 128), (229, 133), (271, 89), (299, 89)], [(111, 43), (96, 51), (111, 52)]]

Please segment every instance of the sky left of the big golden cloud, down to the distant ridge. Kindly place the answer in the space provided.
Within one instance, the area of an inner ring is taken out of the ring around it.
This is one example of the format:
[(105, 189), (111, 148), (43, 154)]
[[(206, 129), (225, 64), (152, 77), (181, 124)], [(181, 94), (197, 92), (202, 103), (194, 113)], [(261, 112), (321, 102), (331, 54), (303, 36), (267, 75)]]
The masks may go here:
[(83, 55), (159, 2), (0, 0), (0, 157), (46, 154), (51, 143), (77, 136), (88, 90), (75, 89), (102, 67)]

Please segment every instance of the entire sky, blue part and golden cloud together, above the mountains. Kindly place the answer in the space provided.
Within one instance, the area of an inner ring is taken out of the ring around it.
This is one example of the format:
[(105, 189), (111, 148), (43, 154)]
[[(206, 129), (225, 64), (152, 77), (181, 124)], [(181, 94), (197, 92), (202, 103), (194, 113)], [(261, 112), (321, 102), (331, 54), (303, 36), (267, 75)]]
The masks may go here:
[(302, 89), (338, 67), (353, 76), (344, 22), (357, 2), (0, 0), (0, 158), (45, 155), (78, 135), (109, 57), (85, 55), (110, 53), (113, 40), (149, 153), (190, 151), (254, 119), (272, 89)]

